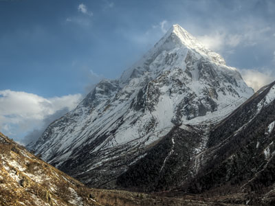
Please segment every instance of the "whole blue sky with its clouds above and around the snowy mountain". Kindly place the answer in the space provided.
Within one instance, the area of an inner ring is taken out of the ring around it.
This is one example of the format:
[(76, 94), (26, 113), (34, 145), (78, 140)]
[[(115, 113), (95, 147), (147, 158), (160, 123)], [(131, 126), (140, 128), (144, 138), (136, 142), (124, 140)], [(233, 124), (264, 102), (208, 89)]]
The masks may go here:
[(274, 11), (272, 0), (0, 0), (0, 130), (23, 142), (175, 23), (258, 88), (275, 76)]

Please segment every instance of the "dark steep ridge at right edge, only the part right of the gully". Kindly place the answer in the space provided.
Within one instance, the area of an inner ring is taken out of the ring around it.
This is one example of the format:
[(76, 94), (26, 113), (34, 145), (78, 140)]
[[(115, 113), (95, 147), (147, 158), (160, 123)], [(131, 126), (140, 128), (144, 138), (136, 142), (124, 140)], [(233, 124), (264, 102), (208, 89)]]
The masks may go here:
[[(209, 190), (230, 183), (246, 192), (268, 192), (267, 196), (274, 196), (274, 100), (275, 82), (263, 87), (215, 126), (210, 132), (208, 150), (201, 154), (202, 161), (205, 157), (208, 160), (201, 164), (193, 189)], [(211, 180), (207, 187), (198, 186), (202, 182), (206, 185), (211, 176), (219, 178)]]

